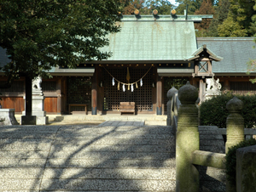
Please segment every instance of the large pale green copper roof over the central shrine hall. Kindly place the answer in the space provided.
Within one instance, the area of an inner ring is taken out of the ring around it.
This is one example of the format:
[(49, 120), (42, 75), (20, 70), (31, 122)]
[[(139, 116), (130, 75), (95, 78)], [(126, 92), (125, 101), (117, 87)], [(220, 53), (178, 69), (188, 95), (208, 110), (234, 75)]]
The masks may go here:
[(183, 60), (197, 49), (192, 20), (128, 19), (119, 23), (121, 31), (110, 34), (109, 46), (102, 48), (113, 53), (108, 60)]

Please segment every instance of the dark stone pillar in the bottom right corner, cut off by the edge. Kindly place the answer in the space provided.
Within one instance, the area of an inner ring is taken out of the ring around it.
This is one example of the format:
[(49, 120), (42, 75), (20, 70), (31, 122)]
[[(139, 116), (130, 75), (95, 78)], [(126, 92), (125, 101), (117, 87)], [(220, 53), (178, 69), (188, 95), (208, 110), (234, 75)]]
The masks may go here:
[(256, 189), (256, 145), (236, 150), (236, 191)]

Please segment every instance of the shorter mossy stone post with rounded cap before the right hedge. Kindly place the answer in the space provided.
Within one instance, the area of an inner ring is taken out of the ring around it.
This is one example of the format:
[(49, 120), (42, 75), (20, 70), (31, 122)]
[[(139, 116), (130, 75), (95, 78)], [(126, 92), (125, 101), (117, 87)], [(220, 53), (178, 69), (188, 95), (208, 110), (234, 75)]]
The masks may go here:
[[(230, 115), (227, 117), (226, 127), (227, 127), (227, 142), (225, 146), (225, 153), (227, 154), (229, 148), (239, 144), (244, 140), (244, 120), (240, 115), (243, 107), (243, 103), (240, 99), (234, 97), (226, 104), (227, 110), (229, 110)], [(233, 192), (236, 191), (236, 185), (227, 182), (226, 191)]]

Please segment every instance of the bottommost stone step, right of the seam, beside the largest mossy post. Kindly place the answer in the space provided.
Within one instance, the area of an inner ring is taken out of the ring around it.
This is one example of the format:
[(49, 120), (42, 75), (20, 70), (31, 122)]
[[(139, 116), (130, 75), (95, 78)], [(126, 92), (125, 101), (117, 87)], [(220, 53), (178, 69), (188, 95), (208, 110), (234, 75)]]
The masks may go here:
[(175, 191), (174, 180), (43, 179), (42, 190)]

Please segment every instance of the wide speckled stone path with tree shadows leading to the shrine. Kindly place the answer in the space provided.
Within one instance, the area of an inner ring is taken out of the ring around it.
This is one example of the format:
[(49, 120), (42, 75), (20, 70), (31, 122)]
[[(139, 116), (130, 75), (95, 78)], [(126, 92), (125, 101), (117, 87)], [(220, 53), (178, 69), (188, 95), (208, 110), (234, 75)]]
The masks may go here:
[(0, 127), (0, 190), (175, 191), (172, 127), (129, 123)]

